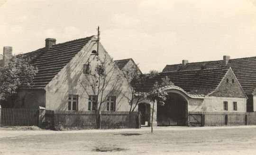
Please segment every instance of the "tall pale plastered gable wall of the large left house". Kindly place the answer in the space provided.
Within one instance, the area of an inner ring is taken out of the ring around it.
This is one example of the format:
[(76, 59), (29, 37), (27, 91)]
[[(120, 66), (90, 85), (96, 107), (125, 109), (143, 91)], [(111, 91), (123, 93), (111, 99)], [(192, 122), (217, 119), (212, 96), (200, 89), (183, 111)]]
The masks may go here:
[[(96, 40), (92, 38), (91, 40)], [(68, 110), (68, 95), (78, 95), (78, 110), (88, 110), (88, 95), (80, 82), (85, 82), (85, 74), (83, 74), (83, 65), (86, 64), (90, 57), (90, 66), (95, 68), (99, 63), (96, 58), (93, 59), (91, 51), (97, 49), (95, 42), (89, 41), (83, 49), (77, 53), (75, 57), (55, 76), (55, 78), (46, 86), (46, 109), (51, 110)], [(110, 60), (111, 57), (106, 52), (101, 44), (99, 44), (99, 57)], [(115, 65), (114, 63), (112, 63)], [(117, 72), (123, 74), (117, 67)], [(84, 86), (86, 83), (84, 84)], [(123, 94), (128, 92), (129, 83), (123, 76), (119, 81), (117, 90), (114, 91), (113, 96), (116, 96), (116, 111), (128, 111), (129, 105), (127, 98)], [(87, 91), (93, 95), (91, 87), (87, 85)], [(108, 87), (107, 87), (108, 89)], [(121, 91), (122, 93), (120, 93)], [(99, 96), (100, 98), (100, 96)], [(106, 110), (106, 104), (102, 105), (101, 110)]]

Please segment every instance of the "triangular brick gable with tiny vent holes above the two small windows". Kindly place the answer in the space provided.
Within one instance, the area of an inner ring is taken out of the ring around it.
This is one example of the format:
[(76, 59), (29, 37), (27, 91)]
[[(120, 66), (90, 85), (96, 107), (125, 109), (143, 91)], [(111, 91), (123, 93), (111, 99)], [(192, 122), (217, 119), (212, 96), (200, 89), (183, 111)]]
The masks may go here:
[[(228, 79), (228, 82), (227, 82)], [(232, 82), (234, 80), (234, 83)], [(228, 70), (216, 90), (210, 93), (209, 96), (214, 97), (229, 97), (229, 98), (246, 98), (235, 74), (231, 69)]]

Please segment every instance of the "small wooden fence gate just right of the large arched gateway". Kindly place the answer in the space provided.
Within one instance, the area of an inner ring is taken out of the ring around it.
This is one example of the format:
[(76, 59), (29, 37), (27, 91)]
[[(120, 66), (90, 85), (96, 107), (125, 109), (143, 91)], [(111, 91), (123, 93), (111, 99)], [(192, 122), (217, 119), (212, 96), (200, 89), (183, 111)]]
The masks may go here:
[(204, 126), (204, 114), (201, 112), (189, 112), (189, 126)]

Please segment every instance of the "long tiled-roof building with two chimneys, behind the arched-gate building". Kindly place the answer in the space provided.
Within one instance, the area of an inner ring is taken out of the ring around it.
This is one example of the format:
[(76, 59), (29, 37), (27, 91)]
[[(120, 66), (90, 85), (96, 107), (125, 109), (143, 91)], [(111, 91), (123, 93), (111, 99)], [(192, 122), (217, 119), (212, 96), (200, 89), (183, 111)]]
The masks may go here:
[(182, 64), (166, 65), (164, 73), (176, 71), (199, 71), (201, 68), (229, 68), (235, 73), (238, 82), (247, 95), (247, 112), (256, 111), (256, 57), (244, 57), (230, 59), (229, 56), (223, 56), (223, 60), (193, 62), (183, 60)]

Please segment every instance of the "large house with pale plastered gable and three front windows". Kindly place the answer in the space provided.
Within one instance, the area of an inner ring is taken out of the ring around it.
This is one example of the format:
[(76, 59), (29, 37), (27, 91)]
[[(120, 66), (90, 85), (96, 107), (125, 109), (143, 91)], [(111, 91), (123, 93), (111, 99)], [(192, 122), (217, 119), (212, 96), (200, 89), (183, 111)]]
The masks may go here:
[[(20, 89), (15, 107), (37, 108), (43, 106), (49, 110), (92, 110), (91, 100), (93, 97), (90, 96), (93, 93), (87, 94), (84, 90), (87, 89), (90, 92), (92, 91), (91, 87), (85, 83), (84, 88), (79, 83), (84, 82), (85, 77), (88, 76), (84, 73), (84, 67), (87, 67), (90, 62), (91, 70), (94, 70), (93, 68), (99, 64), (95, 57), (99, 57), (101, 60), (106, 57), (110, 66), (116, 68), (113, 76), (123, 75), (100, 42), (99, 55), (92, 55), (92, 51), (97, 50), (96, 40), (95, 36), (91, 36), (55, 44), (55, 39), (48, 38), (44, 48), (25, 53), (24, 55), (30, 58), (29, 63), (37, 66), (38, 73), (34, 77), (32, 88)], [(2, 65), (5, 57), (12, 55), (11, 52), (6, 52), (9, 49), (9, 47), (4, 48)], [(125, 89), (129, 86), (129, 82), (124, 76), (121, 76), (117, 85), (118, 87), (111, 93), (111, 103), (102, 105), (102, 110), (129, 111), (128, 101), (121, 95), (129, 93), (129, 90)], [(106, 91), (110, 90), (109, 86), (105, 89)], [(19, 102), (21, 99), (24, 102)]]

